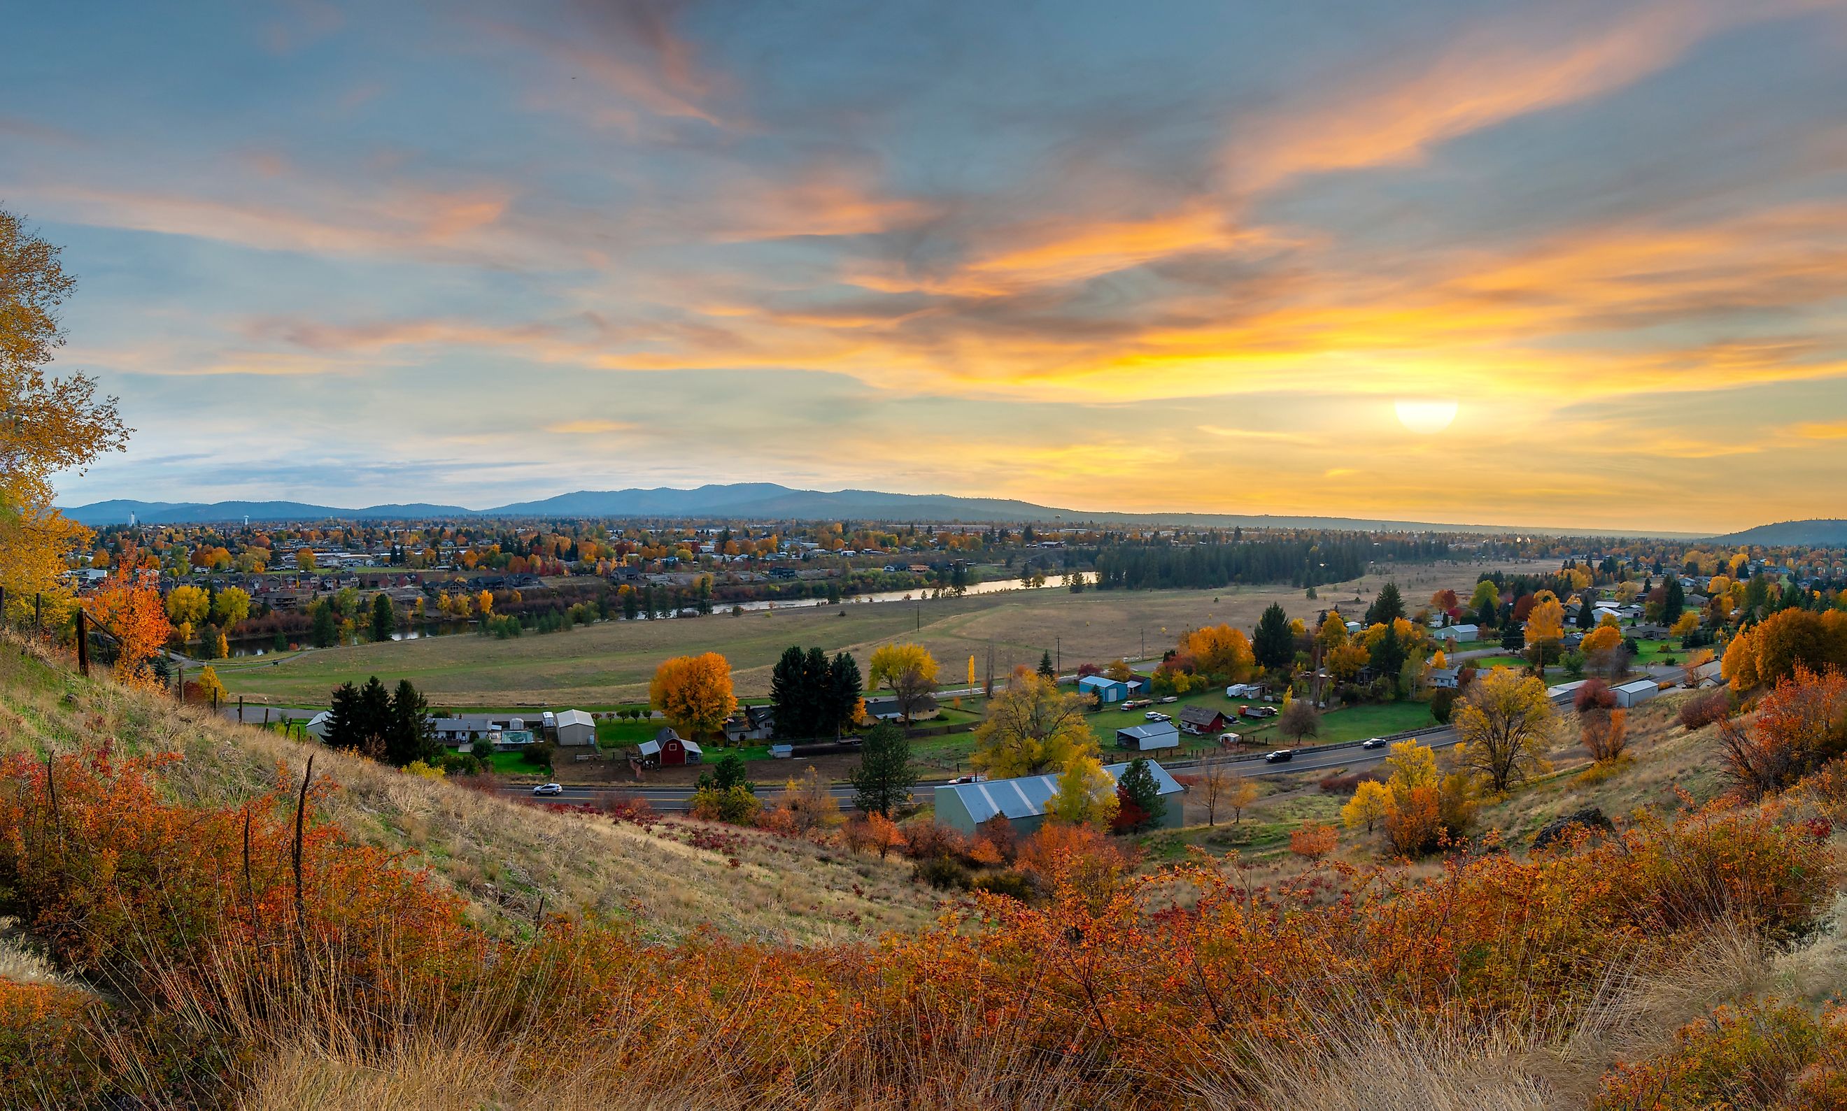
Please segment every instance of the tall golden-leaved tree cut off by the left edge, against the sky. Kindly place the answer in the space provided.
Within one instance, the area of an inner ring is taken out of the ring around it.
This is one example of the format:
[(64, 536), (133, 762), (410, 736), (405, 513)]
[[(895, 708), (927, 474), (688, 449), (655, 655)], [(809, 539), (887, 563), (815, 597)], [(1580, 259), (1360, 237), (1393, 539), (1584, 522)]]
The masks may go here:
[(13, 615), (30, 613), (35, 594), (61, 615), (65, 552), (91, 539), (54, 506), (52, 474), (81, 474), (129, 434), (92, 378), (44, 373), (65, 343), (57, 310), (76, 288), (57, 255), (0, 209), (0, 587)]

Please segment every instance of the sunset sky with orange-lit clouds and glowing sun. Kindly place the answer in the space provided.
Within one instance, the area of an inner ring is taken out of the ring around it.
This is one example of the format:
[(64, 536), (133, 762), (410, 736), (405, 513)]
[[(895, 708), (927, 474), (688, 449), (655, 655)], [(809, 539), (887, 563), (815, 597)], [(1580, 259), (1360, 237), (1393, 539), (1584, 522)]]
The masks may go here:
[(37, 4), (63, 502), (1841, 515), (1847, 2)]

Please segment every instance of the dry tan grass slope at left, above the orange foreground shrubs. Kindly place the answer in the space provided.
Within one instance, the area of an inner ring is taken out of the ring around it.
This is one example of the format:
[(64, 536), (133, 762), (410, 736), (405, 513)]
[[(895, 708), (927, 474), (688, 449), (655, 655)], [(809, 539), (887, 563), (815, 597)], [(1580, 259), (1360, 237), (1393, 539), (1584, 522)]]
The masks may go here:
[(179, 753), (163, 779), (188, 803), (235, 805), (270, 790), (277, 775), (299, 782), (312, 753), (316, 777), (338, 784), (323, 816), (364, 843), (417, 853), (497, 928), (530, 923), (543, 906), (630, 919), (661, 939), (711, 926), (822, 943), (935, 917), (929, 890), (896, 860), (850, 858), (755, 830), (674, 821), (650, 832), (530, 806), (85, 681), (17, 640), (0, 642), (0, 755), (103, 742)]

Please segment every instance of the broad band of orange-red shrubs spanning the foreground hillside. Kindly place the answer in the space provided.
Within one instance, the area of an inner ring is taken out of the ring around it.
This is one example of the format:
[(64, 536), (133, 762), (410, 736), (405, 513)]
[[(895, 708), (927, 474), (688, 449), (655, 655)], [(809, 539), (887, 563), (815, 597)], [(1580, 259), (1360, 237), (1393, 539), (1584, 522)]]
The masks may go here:
[[(1792, 932), (1832, 884), (1823, 838), (1775, 801), (1535, 860), (1455, 858), (1435, 878), (1322, 869), (1276, 890), (1206, 862), (1130, 875), (1110, 838), (1051, 823), (1018, 843), (1044, 899), (977, 891), (877, 947), (658, 945), (563, 917), (512, 939), (465, 923), (406, 860), (312, 821), (327, 784), (308, 794), (297, 901), (299, 781), (185, 806), (159, 773), (105, 755), (0, 762), (0, 886), (61, 965), (146, 1000), (118, 1045), (159, 1094), (212, 1105), (303, 1022), (336, 1017), (384, 1052), (456, 1015), (534, 1081), (591, 1041), (621, 1076), (706, 1039), (746, 1102), (901, 1105), (920, 1085), (955, 1091), (999, 1045), (1016, 1069), (1056, 1067), (1073, 1105), (1178, 1105), (1241, 1045), (1308, 1052), (1334, 1000), (1568, 1021), (1612, 969), (1720, 919)], [(824, 1091), (826, 1076), (855, 1080)]]

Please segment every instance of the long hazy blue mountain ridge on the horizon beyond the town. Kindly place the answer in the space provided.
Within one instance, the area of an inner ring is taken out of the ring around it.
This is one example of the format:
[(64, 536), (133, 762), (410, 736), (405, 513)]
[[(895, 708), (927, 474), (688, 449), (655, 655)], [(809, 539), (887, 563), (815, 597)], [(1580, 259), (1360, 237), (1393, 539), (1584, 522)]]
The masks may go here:
[(266, 522), (301, 520), (416, 520), (465, 517), (645, 517), (711, 520), (916, 520), (916, 522), (1044, 522), (1044, 524), (1188, 524), (1245, 528), (1330, 528), (1330, 530), (1435, 530), (1435, 532), (1544, 532), (1551, 535), (1696, 535), (1638, 533), (1635, 530), (1561, 530), (1509, 524), (1441, 524), (1430, 520), (1363, 520), (1354, 517), (1271, 517), (1239, 513), (1105, 513), (1058, 509), (1005, 498), (960, 498), (951, 495), (892, 495), (870, 489), (813, 491), (774, 482), (739, 482), (696, 489), (615, 489), (574, 491), (537, 502), (513, 502), (491, 509), (432, 506), (425, 502), (366, 506), (310, 506), (307, 502), (133, 502), (115, 498), (65, 509), (65, 515), (92, 528), (127, 524), (129, 515), (144, 524), (222, 524), (246, 517)]

